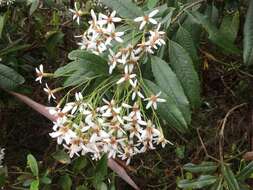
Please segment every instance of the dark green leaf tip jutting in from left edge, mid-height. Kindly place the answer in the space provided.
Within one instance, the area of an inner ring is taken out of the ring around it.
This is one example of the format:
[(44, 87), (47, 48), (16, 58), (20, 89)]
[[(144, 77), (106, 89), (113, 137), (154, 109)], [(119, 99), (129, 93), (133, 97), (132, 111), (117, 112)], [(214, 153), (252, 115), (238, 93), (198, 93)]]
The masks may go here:
[(24, 82), (24, 77), (18, 74), (15, 70), (0, 64), (0, 86), (2, 88), (13, 90)]

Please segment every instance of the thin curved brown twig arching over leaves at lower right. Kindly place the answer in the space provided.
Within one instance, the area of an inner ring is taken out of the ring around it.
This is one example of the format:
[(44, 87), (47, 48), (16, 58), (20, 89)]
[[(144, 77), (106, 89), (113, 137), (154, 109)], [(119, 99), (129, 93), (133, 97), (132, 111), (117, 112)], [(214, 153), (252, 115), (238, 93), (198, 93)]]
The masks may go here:
[(223, 146), (224, 146), (224, 129), (225, 129), (225, 126), (226, 126), (226, 123), (227, 123), (227, 120), (228, 120), (228, 117), (231, 115), (231, 113), (233, 111), (235, 111), (236, 109), (240, 108), (240, 107), (243, 107), (247, 105), (246, 103), (243, 103), (243, 104), (240, 104), (240, 105), (237, 105), (235, 107), (233, 107), (232, 109), (230, 109), (227, 114), (225, 115), (224, 119), (223, 119), (223, 122), (222, 122), (222, 125), (221, 125), (221, 130), (220, 130), (220, 133), (219, 133), (219, 152), (220, 152), (220, 161), (223, 163)]

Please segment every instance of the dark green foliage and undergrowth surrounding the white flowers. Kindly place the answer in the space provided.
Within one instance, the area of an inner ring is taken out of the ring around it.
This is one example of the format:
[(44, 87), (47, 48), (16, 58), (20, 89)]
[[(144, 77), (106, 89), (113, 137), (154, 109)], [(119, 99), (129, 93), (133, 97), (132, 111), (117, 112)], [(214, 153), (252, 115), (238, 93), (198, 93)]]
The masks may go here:
[[(165, 136), (174, 145), (135, 156), (129, 166), (116, 161), (140, 189), (252, 189), (253, 2), (78, 2), (85, 13), (80, 26), (68, 10), (74, 1), (28, 0), (0, 6), (0, 145), (6, 149), (0, 187), (131, 189), (107, 168), (106, 156), (98, 162), (88, 157), (70, 160), (49, 137), (48, 120), (6, 90), (47, 104), (34, 82), (34, 68), (43, 64), (59, 74), (66, 72), (62, 68), (70, 60), (82, 60), (74, 35), (88, 27), (92, 8), (117, 10), (124, 18), (132, 18), (133, 10), (156, 8), (167, 44), (156, 57), (147, 56), (142, 69), (144, 78), (153, 81), (150, 89), (161, 89), (167, 103), (172, 102), (158, 111)], [(82, 75), (74, 68), (71, 76), (51, 85), (71, 88), (82, 82), (76, 83)]]

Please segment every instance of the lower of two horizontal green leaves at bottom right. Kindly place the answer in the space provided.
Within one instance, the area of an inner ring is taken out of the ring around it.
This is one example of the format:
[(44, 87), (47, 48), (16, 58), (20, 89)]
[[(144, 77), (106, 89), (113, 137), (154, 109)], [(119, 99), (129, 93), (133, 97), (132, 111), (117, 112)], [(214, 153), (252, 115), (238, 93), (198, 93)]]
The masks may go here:
[(188, 180), (188, 179), (180, 180), (177, 185), (180, 188), (202, 189), (204, 187), (212, 185), (213, 183), (216, 182), (216, 180), (217, 180), (216, 176), (201, 175), (196, 180)]

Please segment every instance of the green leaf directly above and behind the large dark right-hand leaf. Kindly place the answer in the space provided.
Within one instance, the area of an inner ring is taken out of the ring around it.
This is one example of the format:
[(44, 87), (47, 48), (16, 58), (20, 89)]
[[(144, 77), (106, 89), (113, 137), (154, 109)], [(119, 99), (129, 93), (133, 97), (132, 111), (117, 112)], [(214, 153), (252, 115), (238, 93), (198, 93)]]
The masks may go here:
[(191, 34), (183, 27), (180, 27), (177, 31), (175, 41), (189, 53), (195, 68), (199, 69), (199, 57), (197, 48)]

